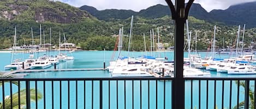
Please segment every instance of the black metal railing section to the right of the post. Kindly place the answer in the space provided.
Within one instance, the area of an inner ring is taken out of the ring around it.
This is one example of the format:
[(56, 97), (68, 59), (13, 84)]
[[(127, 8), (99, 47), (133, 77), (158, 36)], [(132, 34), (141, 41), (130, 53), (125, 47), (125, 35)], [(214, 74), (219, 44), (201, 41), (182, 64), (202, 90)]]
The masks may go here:
[[(189, 94), (185, 93), (187, 108), (255, 109), (255, 78), (185, 78), (185, 80), (185, 87), (189, 87), (187, 89), (190, 91)], [(195, 94), (195, 91), (198, 94)], [(194, 102), (198, 102), (197, 106)]]

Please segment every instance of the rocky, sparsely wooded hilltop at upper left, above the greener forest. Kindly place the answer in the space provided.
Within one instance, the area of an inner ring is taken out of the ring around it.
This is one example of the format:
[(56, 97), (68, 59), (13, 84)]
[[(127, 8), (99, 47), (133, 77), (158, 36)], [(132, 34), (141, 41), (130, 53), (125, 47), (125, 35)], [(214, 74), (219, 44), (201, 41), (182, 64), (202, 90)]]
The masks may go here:
[(94, 19), (86, 11), (61, 2), (49, 0), (2, 0), (0, 18), (4, 20), (77, 23)]

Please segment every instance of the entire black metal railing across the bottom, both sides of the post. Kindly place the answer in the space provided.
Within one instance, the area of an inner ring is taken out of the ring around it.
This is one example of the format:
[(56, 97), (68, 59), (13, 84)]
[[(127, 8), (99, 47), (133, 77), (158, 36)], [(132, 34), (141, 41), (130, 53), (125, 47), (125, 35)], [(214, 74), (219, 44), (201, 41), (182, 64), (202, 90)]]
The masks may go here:
[[(184, 80), (185, 108), (255, 108), (256, 78)], [(172, 85), (173, 78), (47, 78), (0, 81), (4, 83), (0, 88), (2, 108), (171, 108), (171, 93), (175, 88)], [(23, 89), (26, 91), (22, 92)]]

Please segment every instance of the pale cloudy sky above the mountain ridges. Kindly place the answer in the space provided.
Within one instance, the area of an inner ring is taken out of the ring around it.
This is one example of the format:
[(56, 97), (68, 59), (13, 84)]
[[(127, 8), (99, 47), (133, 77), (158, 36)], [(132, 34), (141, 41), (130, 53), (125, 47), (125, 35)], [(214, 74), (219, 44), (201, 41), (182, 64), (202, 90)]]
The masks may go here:
[[(56, 1), (56, 0), (55, 0)], [(152, 5), (164, 4), (165, 0), (58, 0), (64, 3), (81, 7), (82, 5), (90, 5), (98, 10), (104, 9), (131, 9), (140, 11)], [(172, 0), (174, 1), (174, 0)], [(188, 1), (188, 0), (186, 0)], [(207, 11), (212, 9), (227, 9), (230, 5), (252, 2), (256, 0), (195, 0), (194, 3), (199, 3)]]

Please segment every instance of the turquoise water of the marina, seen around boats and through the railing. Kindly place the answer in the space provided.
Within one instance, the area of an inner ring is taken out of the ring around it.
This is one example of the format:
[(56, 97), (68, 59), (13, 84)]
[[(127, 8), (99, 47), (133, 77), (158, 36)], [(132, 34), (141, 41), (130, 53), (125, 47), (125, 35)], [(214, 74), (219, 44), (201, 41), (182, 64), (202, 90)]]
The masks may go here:
[[(109, 61), (112, 57), (112, 51), (105, 52), (105, 62), (106, 66), (108, 66)], [(38, 55), (43, 55), (45, 53), (38, 53)], [(51, 52), (53, 55), (54, 53)], [(124, 52), (123, 55), (127, 55), (127, 52)], [(150, 53), (147, 53), (148, 55)], [(201, 52), (201, 56), (210, 56), (208, 52)], [(11, 60), (10, 53), (0, 53), (2, 62), (0, 62), (0, 70), (4, 70), (4, 66), (8, 65)], [(24, 57), (28, 57), (29, 54), (24, 54)], [(133, 52), (130, 55), (133, 57), (144, 55), (143, 52)], [(169, 60), (173, 60), (174, 53), (173, 52), (164, 52), (160, 54), (162, 57), (168, 57)], [(65, 69), (65, 68), (103, 68), (104, 62), (104, 51), (89, 51), (89, 52), (74, 52), (73, 56), (75, 57), (74, 61), (67, 61), (60, 63), (57, 65), (58, 69)], [(155, 54), (158, 56), (158, 53)], [(187, 53), (184, 53), (184, 56), (187, 56)], [(18, 53), (15, 55), (16, 59), (22, 59), (22, 54)], [(229, 55), (216, 55), (216, 57), (229, 57)], [(115, 58), (114, 58), (115, 59)], [(50, 67), (49, 69), (53, 69)], [(228, 75), (228, 74), (219, 74), (216, 72), (211, 72), (212, 77), (256, 77), (256, 75)], [(107, 71), (79, 71), (79, 72), (33, 72), (29, 73), (25, 78), (103, 78), (103, 77), (111, 77), (111, 74)], [(140, 96), (142, 97), (142, 108), (147, 107), (147, 94), (148, 94), (148, 87), (147, 81), (142, 81), (142, 95), (140, 95), (140, 83), (139, 81), (134, 81), (134, 108), (140, 108)], [(209, 81), (209, 108), (213, 108), (213, 81)], [(254, 84), (254, 82), (251, 82)], [(25, 88), (25, 82), (21, 83), (22, 89)], [(38, 90), (43, 93), (43, 82), (38, 81)], [(46, 108), (51, 108), (52, 106), (52, 95), (51, 95), (51, 82), (46, 81)], [(54, 108), (59, 108), (59, 102), (62, 101), (62, 108), (67, 108), (68, 106), (68, 82), (62, 81), (62, 100), (59, 99), (59, 81), (53, 82), (53, 94), (54, 94)], [(109, 91), (108, 91), (108, 81), (103, 81), (103, 107), (108, 108), (108, 99), (109, 99)], [(185, 82), (185, 91), (186, 91), (186, 108), (190, 108), (190, 81)], [(229, 108), (229, 81), (224, 82), (225, 89), (224, 89), (224, 107)], [(91, 108), (92, 107), (92, 82), (86, 81), (86, 90), (84, 91), (84, 81), (78, 81), (78, 108)], [(163, 108), (163, 81), (157, 82), (157, 101), (156, 101), (156, 81), (150, 81), (150, 108), (156, 107), (156, 102), (158, 104), (158, 108)], [(171, 108), (171, 81), (166, 81), (165, 85), (165, 107)], [(31, 82), (31, 88), (35, 87), (35, 82)], [(126, 87), (126, 106), (127, 108), (132, 108), (132, 81), (126, 81), (126, 86), (124, 86), (124, 81), (118, 81), (118, 108), (124, 108), (124, 87)], [(237, 85), (233, 81), (233, 89), (232, 89), (232, 106), (236, 105), (236, 94), (237, 94)], [(252, 87), (252, 85), (251, 85)], [(218, 108), (221, 108), (221, 97), (222, 97), (222, 83), (221, 81), (217, 81), (217, 90), (216, 90), (216, 105)], [(0, 88), (0, 92), (2, 88)], [(70, 81), (70, 108), (75, 108), (75, 81)], [(17, 86), (13, 85), (13, 92), (17, 92)], [(86, 102), (84, 102), (84, 92), (86, 92)], [(199, 107), (198, 102), (198, 81), (193, 81), (193, 108)], [(240, 101), (244, 99), (244, 89), (240, 87)], [(9, 84), (5, 84), (5, 96), (9, 95)], [(0, 93), (0, 97), (2, 93)], [(116, 108), (116, 81), (110, 81), (110, 108)], [(1, 97), (2, 98), (2, 97)], [(2, 101), (2, 100), (0, 100)], [(43, 99), (38, 101), (38, 107), (43, 108)], [(99, 108), (99, 81), (94, 81), (93, 83), (93, 108)], [(32, 108), (35, 108), (35, 103), (31, 104)], [(201, 108), (205, 108), (206, 106), (206, 81), (201, 81)]]

